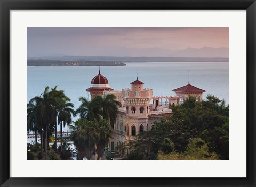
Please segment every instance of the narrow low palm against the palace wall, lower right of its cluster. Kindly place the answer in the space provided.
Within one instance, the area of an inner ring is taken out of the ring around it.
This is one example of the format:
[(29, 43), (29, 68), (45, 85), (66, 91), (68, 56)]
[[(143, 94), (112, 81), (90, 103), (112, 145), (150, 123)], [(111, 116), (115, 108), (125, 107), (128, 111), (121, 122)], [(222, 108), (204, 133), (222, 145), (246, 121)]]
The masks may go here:
[(102, 158), (103, 153), (104, 153), (104, 148), (108, 144), (108, 141), (112, 136), (113, 128), (111, 128), (111, 126), (109, 126), (109, 123), (107, 120), (100, 120), (95, 123), (97, 124), (97, 129), (99, 132), (99, 141), (96, 144), (97, 159), (99, 160), (100, 158)]

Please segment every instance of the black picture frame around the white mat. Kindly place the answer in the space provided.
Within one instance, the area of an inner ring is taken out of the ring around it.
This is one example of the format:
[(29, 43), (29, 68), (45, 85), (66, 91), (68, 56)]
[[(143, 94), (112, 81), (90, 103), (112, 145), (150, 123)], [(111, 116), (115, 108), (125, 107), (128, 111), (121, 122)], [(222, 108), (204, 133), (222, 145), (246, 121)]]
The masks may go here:
[[(0, 185), (1, 186), (256, 186), (255, 175), (255, 0), (0, 0)], [(246, 178), (10, 178), (10, 10), (196, 9), (246, 10), (247, 177)]]

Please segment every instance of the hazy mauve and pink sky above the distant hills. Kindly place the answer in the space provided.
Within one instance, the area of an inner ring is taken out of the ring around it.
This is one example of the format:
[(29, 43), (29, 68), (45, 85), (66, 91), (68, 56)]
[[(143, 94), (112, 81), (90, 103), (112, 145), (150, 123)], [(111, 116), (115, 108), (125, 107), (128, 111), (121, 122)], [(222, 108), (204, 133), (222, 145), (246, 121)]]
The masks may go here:
[(28, 27), (27, 55), (172, 56), (187, 48), (228, 48), (228, 38), (228, 27)]

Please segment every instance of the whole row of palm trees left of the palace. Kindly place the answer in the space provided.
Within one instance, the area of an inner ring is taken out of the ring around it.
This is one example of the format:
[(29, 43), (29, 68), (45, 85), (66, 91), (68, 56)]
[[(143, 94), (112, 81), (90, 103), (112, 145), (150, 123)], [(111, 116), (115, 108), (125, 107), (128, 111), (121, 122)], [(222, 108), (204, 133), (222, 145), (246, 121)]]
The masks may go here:
[[(60, 125), (60, 153), (63, 152), (62, 125), (69, 125), (70, 138), (77, 148), (77, 159), (91, 159), (92, 152), (97, 150), (97, 159), (103, 155), (103, 148), (107, 145), (113, 132), (116, 121), (117, 108), (121, 103), (115, 100), (114, 95), (105, 97), (96, 96), (91, 101), (79, 97), (81, 105), (74, 109), (70, 98), (63, 90), (46, 87), (40, 96), (35, 96), (27, 104), (27, 131), (35, 133), (35, 152), (41, 149), (41, 154), (47, 159), (49, 139), (55, 133), (52, 147), (57, 151), (57, 125)], [(79, 115), (73, 123), (72, 118)], [(40, 134), (41, 143), (37, 145), (37, 134)]]

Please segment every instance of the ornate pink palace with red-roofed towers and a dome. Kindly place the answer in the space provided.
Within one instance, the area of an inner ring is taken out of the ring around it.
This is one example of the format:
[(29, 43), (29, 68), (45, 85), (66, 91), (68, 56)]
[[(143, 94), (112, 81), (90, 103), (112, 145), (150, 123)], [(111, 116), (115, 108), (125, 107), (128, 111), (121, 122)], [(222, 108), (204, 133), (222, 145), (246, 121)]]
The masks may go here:
[[(189, 95), (202, 100), (205, 90), (199, 89), (188, 83), (186, 86), (174, 89), (175, 96), (153, 96), (153, 89), (143, 88), (143, 82), (131, 82), (131, 88), (122, 91), (113, 90), (108, 80), (100, 71), (92, 81), (90, 88), (91, 98), (97, 95), (114, 94), (122, 107), (118, 109), (116, 124), (114, 125), (113, 138), (109, 141), (109, 151), (115, 152), (115, 147), (122, 145), (127, 140), (134, 140), (135, 135), (142, 131), (154, 128), (154, 122), (161, 120), (162, 116), (172, 115), (171, 105), (179, 105)], [(150, 104), (150, 101), (153, 101)], [(125, 150), (119, 152), (125, 155)]]

